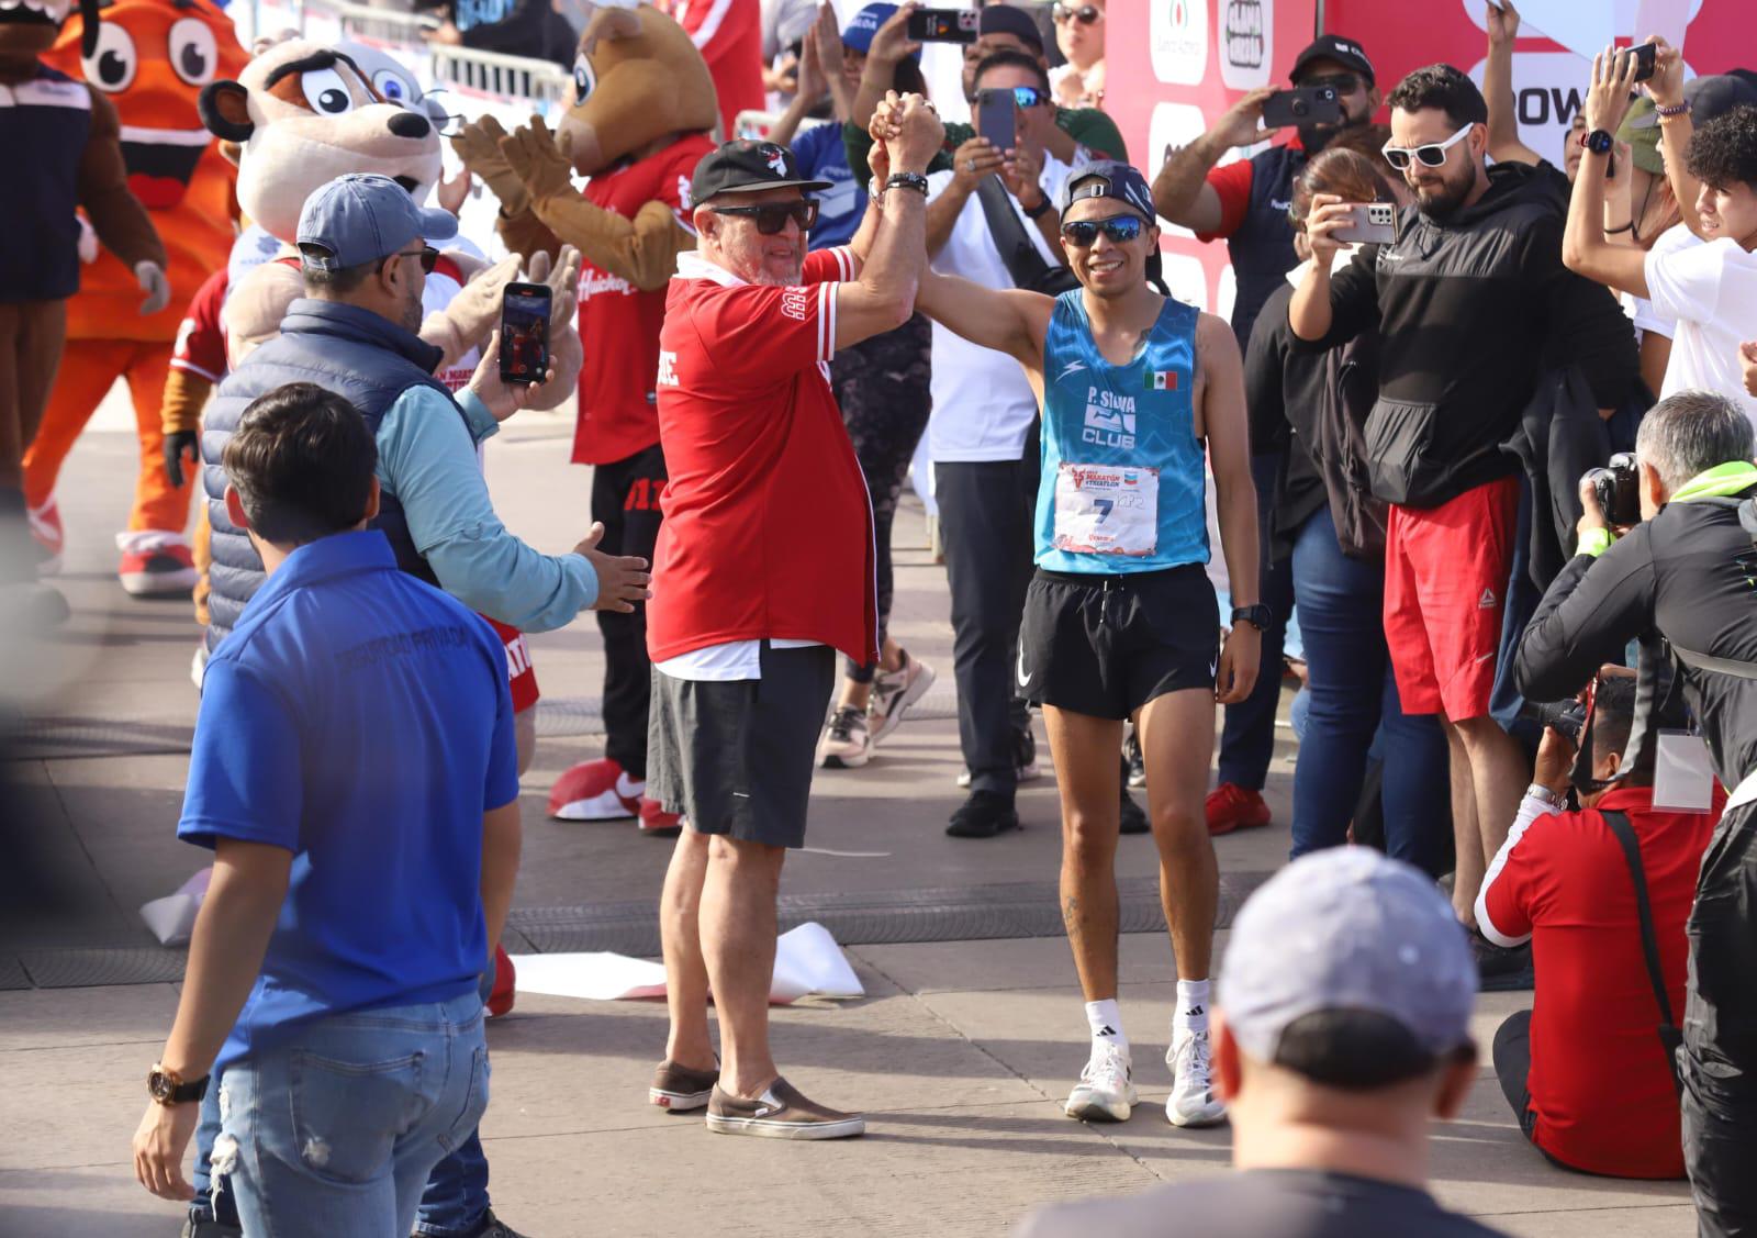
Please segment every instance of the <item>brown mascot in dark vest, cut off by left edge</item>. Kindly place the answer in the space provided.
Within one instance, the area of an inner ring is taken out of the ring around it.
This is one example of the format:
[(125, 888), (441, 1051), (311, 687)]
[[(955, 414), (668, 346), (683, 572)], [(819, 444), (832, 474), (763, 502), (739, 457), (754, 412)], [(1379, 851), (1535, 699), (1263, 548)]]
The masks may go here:
[[(60, 366), (67, 301), (83, 281), (79, 211), (102, 244), (104, 253), (93, 253), (100, 271), (112, 269), (125, 287), (121, 306), (130, 317), (151, 320), (170, 301), (165, 246), (128, 192), (132, 169), (123, 164), (114, 104), (42, 58), (69, 5), (0, 5), (0, 146), (12, 160), (12, 172), (0, 181), (0, 628), (67, 617), (65, 600), (37, 584), (42, 556), (26, 519), (25, 452), (56, 387), (56, 369), (65, 382), (81, 364), (69, 357), (70, 364)], [(97, 0), (83, 0), (72, 32), (88, 56), (97, 55)]]

